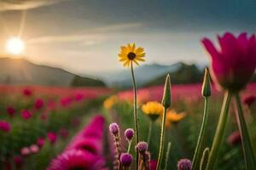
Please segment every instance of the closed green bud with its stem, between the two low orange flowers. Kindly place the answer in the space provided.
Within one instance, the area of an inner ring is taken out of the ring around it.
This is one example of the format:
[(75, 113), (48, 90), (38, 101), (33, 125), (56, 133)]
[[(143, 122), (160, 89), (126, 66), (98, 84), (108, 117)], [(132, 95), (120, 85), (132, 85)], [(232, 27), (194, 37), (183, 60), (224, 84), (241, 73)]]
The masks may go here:
[(171, 81), (170, 75), (166, 77), (166, 84), (164, 89), (164, 95), (162, 99), (162, 105), (164, 106), (164, 113), (162, 118), (161, 134), (160, 134), (160, 150), (157, 161), (156, 169), (159, 170), (163, 158), (164, 144), (165, 144), (165, 129), (166, 129), (166, 110), (171, 106)]

